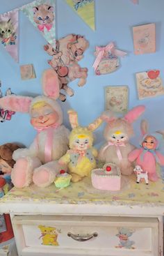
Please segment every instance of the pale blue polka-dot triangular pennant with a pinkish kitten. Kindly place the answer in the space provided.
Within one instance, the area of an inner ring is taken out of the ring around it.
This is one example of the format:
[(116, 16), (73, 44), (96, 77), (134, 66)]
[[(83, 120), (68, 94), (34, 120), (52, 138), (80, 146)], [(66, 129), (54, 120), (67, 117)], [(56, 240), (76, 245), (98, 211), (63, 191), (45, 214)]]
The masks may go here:
[(55, 1), (36, 0), (20, 8), (48, 43), (56, 47)]

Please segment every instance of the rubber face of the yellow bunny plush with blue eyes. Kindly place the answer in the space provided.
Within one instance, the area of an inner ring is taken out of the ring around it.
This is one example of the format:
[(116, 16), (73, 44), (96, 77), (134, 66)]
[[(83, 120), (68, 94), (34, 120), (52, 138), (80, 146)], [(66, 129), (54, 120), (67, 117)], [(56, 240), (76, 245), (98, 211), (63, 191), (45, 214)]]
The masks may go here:
[(77, 135), (72, 146), (77, 150), (87, 150), (90, 147), (90, 138), (83, 134)]

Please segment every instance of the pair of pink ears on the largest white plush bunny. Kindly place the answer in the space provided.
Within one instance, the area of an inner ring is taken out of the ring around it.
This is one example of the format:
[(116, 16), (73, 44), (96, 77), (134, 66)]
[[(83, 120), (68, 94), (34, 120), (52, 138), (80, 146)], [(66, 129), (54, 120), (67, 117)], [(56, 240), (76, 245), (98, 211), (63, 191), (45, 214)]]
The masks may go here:
[[(56, 100), (59, 96), (58, 75), (55, 70), (47, 69), (42, 74), (42, 89), (45, 96)], [(0, 107), (3, 110), (14, 112), (29, 112), (33, 98), (28, 96), (10, 95), (0, 98)]]

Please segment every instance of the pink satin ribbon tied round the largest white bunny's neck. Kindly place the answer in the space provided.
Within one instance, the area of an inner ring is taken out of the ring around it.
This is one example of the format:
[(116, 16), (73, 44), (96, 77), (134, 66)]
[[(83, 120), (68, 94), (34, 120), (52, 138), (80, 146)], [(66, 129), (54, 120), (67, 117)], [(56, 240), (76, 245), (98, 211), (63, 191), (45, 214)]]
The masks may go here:
[[(45, 163), (49, 163), (52, 160), (54, 129), (58, 128), (58, 126), (59, 125), (54, 125), (51, 127), (44, 127), (44, 128), (36, 128), (36, 130), (38, 130), (38, 135), (42, 130), (47, 130), (47, 137), (46, 137), (45, 148), (44, 148)], [(35, 145), (39, 149), (38, 135), (35, 137)]]

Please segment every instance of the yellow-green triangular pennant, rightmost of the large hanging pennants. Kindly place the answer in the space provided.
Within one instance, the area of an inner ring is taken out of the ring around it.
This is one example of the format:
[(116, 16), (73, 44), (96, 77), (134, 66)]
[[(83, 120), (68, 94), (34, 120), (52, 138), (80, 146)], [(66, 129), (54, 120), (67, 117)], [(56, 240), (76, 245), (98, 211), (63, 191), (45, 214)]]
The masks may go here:
[(66, 0), (66, 2), (95, 31), (95, 0)]

